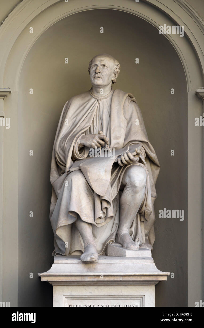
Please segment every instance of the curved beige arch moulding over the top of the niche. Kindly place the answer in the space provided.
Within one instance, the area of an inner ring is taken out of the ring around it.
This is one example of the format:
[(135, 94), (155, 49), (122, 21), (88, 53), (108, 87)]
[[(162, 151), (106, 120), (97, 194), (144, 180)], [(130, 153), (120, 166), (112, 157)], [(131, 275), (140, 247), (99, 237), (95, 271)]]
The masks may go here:
[[(201, 48), (201, 45), (203, 44), (202, 37), (204, 34), (202, 19), (186, 1), (177, 0), (175, 2), (173, 0), (163, 0), (163, 4), (161, 4), (161, 2), (158, 0), (145, 0), (138, 4), (127, 0), (114, 0), (112, 1), (111, 5), (96, 5), (94, 1), (91, 1), (93, 4), (88, 6), (86, 5), (86, 2), (87, 1), (81, 0), (77, 0), (73, 4), (65, 3), (64, 1), (62, 2), (59, 0), (44, 0), (43, 3), (42, 1), (37, 0), (34, 4), (31, 0), (23, 0), (20, 2), (20, 4), (14, 8), (14, 10), (9, 14), (9, 16), (5, 19), (4, 23), (0, 27), (0, 42), (2, 44), (2, 54), (0, 56), (2, 58), (0, 63), (1, 84), (3, 85), (4, 69), (6, 67), (9, 53), (27, 24), (29, 24), (31, 21), (34, 23), (35, 19), (39, 18), (39, 16), (43, 17), (43, 22), (45, 23), (38, 23), (39, 27), (35, 27), (36, 32), (33, 38), (30, 41), (27, 39), (24, 42), (24, 52), (21, 55), (21, 60), (16, 70), (14, 86), (15, 91), (18, 89), (18, 78), (25, 57), (38, 37), (46, 29), (48, 29), (51, 25), (55, 24), (60, 19), (72, 15), (76, 12), (93, 9), (112, 9), (125, 11), (143, 18), (157, 29), (159, 29), (159, 26), (164, 19), (168, 24), (166, 19), (166, 15), (168, 15), (170, 17), (169, 24), (172, 24), (173, 21), (178, 25), (185, 26), (186, 37), (191, 41), (191, 44), (196, 51), (197, 57), (199, 58), (200, 67), (202, 68), (202, 76), (204, 76), (204, 49), (203, 47)], [(90, 1), (88, 2), (90, 3)], [(158, 11), (158, 9), (160, 10)], [(46, 15), (47, 10), (50, 11), (49, 15)], [(187, 18), (189, 19), (189, 17), (191, 17), (191, 19), (190, 21), (188, 20), (188, 24), (186, 24), (185, 22), (187, 21)], [(17, 21), (18, 24), (16, 25)], [(180, 42), (181, 40), (179, 40), (178, 36), (175, 34), (164, 34), (164, 36), (168, 38), (172, 46), (177, 51), (185, 71), (188, 91), (192, 91), (191, 73), (188, 69), (189, 65), (187, 63), (186, 53), (182, 49), (182, 42)]]

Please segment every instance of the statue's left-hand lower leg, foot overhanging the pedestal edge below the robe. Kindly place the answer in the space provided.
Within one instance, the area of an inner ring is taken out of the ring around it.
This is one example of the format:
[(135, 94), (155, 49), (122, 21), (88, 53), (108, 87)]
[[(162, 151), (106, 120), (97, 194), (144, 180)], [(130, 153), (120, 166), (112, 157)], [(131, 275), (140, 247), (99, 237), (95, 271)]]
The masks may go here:
[(93, 238), (92, 224), (82, 221), (79, 216), (75, 224), (84, 242), (84, 254), (80, 257), (81, 261), (96, 261), (98, 259), (98, 253), (96, 242)]

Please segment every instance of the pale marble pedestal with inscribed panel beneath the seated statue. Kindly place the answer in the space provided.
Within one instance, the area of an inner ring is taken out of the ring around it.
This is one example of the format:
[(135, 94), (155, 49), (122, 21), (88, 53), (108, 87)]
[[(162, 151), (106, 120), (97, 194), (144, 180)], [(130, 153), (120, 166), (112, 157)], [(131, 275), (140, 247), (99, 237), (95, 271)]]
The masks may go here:
[(139, 256), (101, 255), (96, 263), (55, 256), (51, 269), (38, 275), (53, 285), (54, 307), (155, 306), (155, 284), (170, 273), (156, 268), (150, 250), (134, 252)]

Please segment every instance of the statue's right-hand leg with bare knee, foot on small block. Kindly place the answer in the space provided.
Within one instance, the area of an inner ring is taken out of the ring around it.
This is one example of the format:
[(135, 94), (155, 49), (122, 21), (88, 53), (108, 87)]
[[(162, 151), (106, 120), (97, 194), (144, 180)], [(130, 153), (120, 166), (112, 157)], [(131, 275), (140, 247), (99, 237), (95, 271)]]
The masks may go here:
[(138, 247), (129, 235), (129, 229), (144, 198), (146, 171), (143, 167), (131, 165), (124, 173), (120, 198), (120, 222), (117, 242), (124, 248), (137, 250)]

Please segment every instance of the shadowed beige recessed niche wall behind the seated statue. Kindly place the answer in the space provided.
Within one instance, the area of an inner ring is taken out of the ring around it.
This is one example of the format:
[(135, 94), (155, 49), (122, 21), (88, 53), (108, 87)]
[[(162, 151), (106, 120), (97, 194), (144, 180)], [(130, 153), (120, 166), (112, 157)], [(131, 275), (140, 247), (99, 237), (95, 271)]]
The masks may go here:
[[(64, 103), (90, 89), (88, 63), (101, 52), (119, 60), (121, 73), (114, 88), (135, 95), (161, 164), (153, 256), (157, 267), (173, 272), (174, 279), (168, 277), (156, 286), (156, 305), (187, 306), (186, 78), (176, 51), (157, 29), (115, 10), (90, 10), (64, 18), (41, 35), (23, 65), (18, 114), (18, 305), (51, 305), (52, 286), (40, 282), (37, 272), (49, 269), (53, 260), (49, 222), (52, 146)], [(69, 64), (64, 64), (65, 57)], [(139, 64), (135, 64), (136, 57)], [(33, 156), (29, 156), (30, 149)], [(170, 156), (172, 149), (175, 156)], [(184, 221), (159, 219), (158, 211), (164, 207), (184, 209)]]

